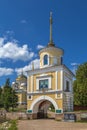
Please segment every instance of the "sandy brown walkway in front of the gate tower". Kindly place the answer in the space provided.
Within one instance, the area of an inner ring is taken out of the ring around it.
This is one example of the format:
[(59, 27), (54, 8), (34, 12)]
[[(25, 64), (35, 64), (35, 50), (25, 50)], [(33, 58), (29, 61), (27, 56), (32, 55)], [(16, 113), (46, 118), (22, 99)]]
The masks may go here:
[(87, 123), (58, 122), (50, 119), (20, 120), (18, 130), (87, 130)]

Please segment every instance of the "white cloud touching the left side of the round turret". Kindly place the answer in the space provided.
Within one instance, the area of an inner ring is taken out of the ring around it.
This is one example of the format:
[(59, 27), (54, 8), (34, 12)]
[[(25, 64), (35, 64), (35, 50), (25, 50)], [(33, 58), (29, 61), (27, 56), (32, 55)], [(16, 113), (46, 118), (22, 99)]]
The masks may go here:
[(29, 63), (29, 65), (24, 66), (23, 68), (16, 68), (15, 72), (17, 72), (17, 74), (20, 74), (23, 71), (24, 74), (26, 74), (26, 71), (32, 70), (32, 63), (34, 64), (34, 69), (40, 68), (40, 60), (39, 59), (35, 59), (35, 60), (31, 61)]

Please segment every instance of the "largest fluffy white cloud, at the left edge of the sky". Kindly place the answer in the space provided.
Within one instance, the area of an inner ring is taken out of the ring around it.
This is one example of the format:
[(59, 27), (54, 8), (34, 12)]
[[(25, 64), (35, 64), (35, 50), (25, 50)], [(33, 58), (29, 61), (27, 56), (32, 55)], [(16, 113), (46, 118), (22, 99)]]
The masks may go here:
[(28, 61), (34, 57), (34, 52), (29, 50), (28, 45), (24, 44), (22, 46), (18, 45), (17, 40), (7, 41), (5, 43), (5, 38), (0, 38), (0, 58), (1, 59), (11, 59), (13, 61), (22, 60)]

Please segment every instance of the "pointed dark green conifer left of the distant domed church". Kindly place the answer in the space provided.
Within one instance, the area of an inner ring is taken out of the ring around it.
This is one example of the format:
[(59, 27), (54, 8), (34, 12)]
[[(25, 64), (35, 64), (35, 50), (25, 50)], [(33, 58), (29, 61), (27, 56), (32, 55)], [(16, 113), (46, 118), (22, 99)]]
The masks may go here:
[(7, 79), (3, 87), (3, 104), (4, 108), (8, 111), (10, 107), (14, 108), (17, 105), (17, 95), (10, 85), (10, 80)]

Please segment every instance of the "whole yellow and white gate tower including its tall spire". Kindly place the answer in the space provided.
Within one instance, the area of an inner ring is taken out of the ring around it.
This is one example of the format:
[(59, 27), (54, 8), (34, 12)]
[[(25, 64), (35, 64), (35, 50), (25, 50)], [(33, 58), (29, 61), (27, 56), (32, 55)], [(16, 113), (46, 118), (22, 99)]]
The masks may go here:
[(40, 68), (27, 71), (27, 112), (32, 118), (46, 116), (50, 104), (55, 117), (73, 110), (73, 73), (63, 64), (64, 51), (52, 40), (52, 14), (50, 14), (50, 42), (40, 50)]

